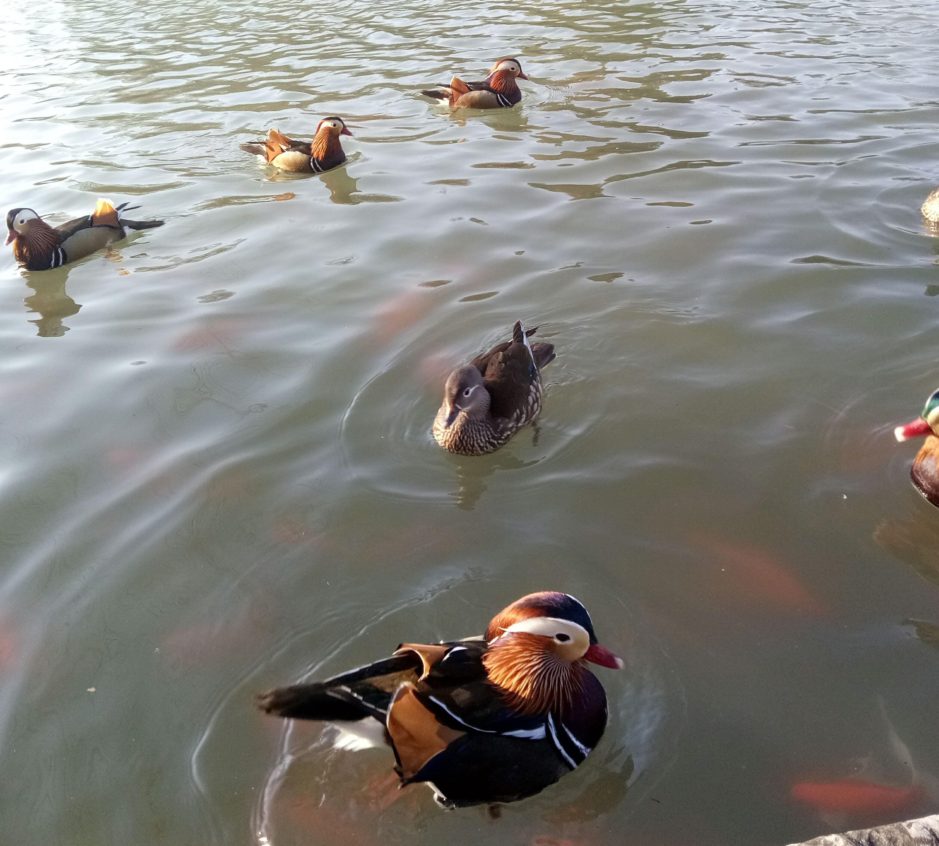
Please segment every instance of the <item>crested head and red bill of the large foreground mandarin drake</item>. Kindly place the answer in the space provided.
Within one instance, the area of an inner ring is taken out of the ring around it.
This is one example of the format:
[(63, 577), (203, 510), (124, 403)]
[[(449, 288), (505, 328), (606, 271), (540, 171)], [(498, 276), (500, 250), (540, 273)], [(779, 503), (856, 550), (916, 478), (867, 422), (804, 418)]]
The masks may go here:
[(531, 649), (565, 661), (583, 659), (602, 667), (623, 669), (622, 658), (597, 641), (587, 609), (568, 593), (542, 591), (523, 596), (492, 619), (485, 639), (490, 646), (521, 640)]

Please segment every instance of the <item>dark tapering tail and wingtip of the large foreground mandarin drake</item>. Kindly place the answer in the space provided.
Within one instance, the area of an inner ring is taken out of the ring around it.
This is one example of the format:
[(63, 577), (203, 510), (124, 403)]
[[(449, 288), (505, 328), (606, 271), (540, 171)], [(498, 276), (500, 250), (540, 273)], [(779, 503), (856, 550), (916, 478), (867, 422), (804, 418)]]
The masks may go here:
[(416, 682), (421, 671), (416, 655), (393, 655), (324, 682), (276, 687), (262, 693), (257, 706), (267, 714), (294, 719), (336, 722), (374, 716), (384, 722), (394, 692)]

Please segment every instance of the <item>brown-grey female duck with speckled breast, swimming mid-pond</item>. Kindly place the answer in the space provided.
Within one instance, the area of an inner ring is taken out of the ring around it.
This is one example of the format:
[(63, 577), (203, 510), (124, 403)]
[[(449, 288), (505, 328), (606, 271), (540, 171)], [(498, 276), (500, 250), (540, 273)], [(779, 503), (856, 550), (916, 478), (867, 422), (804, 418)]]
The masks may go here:
[(457, 367), (447, 378), (434, 420), (434, 439), (461, 455), (495, 452), (541, 411), (541, 368), (554, 361), (554, 345), (529, 343), (520, 320), (512, 340)]

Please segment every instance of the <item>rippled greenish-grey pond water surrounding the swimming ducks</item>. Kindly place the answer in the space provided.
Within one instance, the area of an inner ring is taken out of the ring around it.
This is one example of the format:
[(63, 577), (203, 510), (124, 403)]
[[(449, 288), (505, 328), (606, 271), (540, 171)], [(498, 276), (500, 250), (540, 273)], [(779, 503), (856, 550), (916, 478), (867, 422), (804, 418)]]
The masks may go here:
[[(5, 841), (770, 846), (939, 809), (792, 798), (939, 775), (939, 654), (904, 624), (939, 622), (939, 514), (891, 438), (939, 382), (935, 23), (910, 0), (5, 16), (3, 208), (166, 220), (65, 269), (0, 258)], [(519, 108), (418, 93), (505, 54)], [(323, 115), (355, 136), (327, 175), (239, 150)], [(540, 423), (444, 453), (443, 378), (516, 318), (558, 352)], [(541, 589), (629, 670), (597, 669), (587, 763), (500, 820), (254, 710)]]

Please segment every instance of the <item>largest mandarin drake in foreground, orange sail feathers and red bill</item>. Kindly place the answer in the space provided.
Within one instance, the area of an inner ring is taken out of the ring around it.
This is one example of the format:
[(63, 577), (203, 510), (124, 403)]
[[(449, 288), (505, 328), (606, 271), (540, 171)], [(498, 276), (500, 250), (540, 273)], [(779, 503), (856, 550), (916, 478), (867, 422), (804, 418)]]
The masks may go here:
[(360, 739), (337, 746), (390, 742), (402, 784), (427, 782), (444, 808), (514, 802), (574, 770), (602, 737), (607, 695), (587, 661), (623, 668), (577, 599), (530, 593), (483, 637), (403, 643), (325, 682), (271, 690), (258, 706)]

